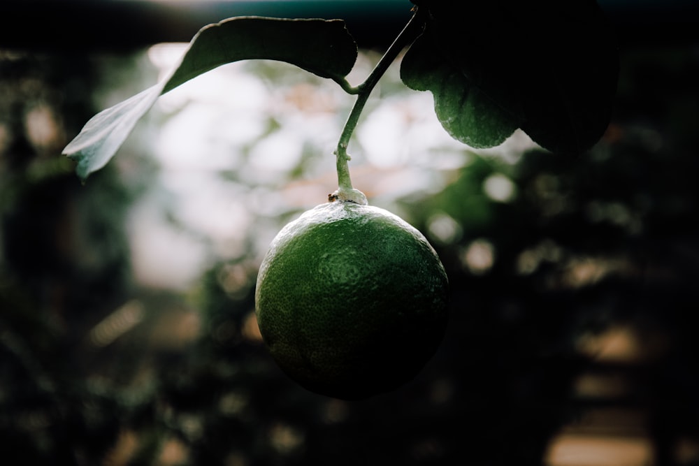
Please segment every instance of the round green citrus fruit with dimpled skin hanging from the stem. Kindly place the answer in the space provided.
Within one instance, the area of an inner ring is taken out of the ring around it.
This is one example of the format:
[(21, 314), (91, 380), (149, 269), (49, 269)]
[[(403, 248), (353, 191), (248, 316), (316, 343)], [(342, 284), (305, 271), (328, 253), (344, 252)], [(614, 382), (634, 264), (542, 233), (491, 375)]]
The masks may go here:
[(257, 277), (271, 354), (310, 391), (356, 400), (413, 379), (447, 323), (447, 275), (424, 236), (387, 210), (318, 205), (282, 228)]

